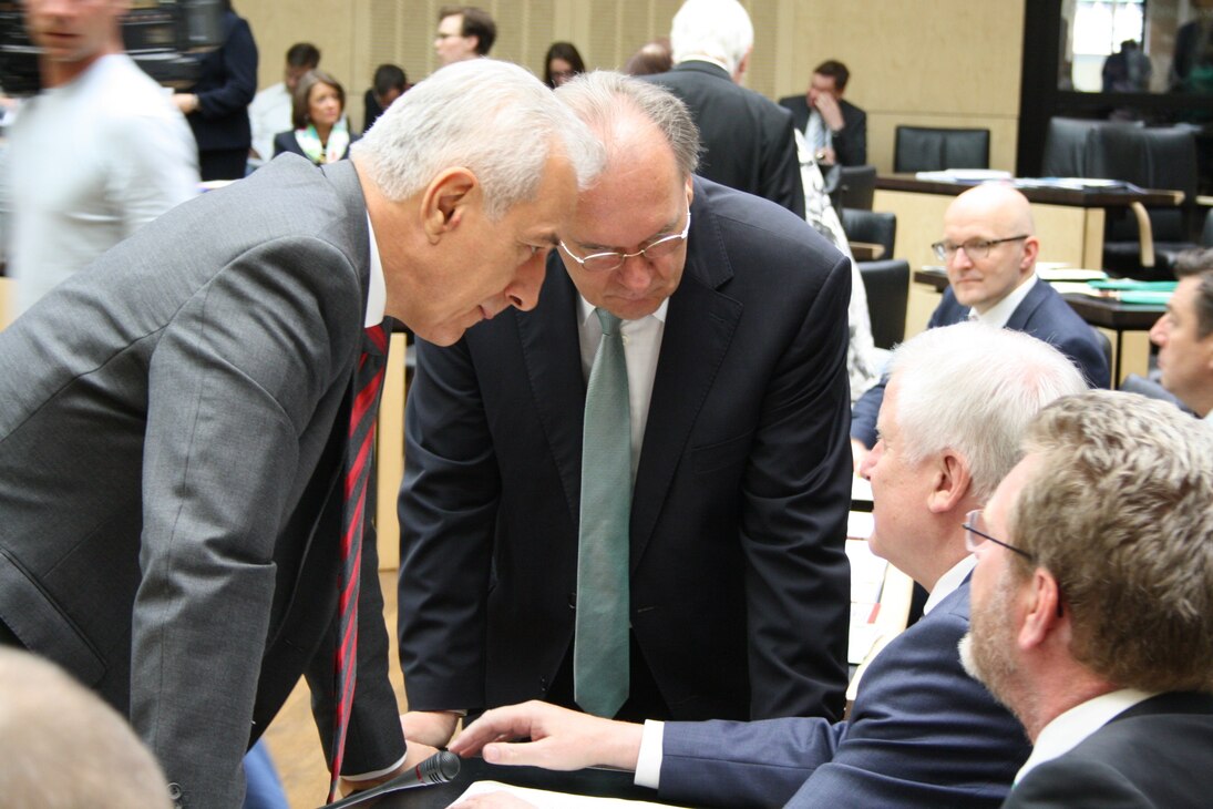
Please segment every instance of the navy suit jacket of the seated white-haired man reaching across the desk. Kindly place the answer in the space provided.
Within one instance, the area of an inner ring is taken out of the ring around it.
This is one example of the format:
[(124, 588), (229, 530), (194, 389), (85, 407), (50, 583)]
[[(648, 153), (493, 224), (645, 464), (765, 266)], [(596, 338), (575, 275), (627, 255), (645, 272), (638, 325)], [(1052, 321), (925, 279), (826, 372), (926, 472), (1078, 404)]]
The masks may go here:
[(997, 807), (1031, 750), (961, 667), (969, 582), (881, 651), (850, 718), (671, 722), (662, 799), (724, 807)]

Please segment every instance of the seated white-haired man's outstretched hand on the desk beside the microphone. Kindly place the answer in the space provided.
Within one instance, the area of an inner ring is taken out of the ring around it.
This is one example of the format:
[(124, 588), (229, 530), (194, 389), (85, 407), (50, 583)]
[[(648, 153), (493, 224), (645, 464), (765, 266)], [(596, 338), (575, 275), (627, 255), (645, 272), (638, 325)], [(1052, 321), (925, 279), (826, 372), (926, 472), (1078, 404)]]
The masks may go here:
[(549, 770), (605, 765), (632, 771), (640, 756), (643, 729), (531, 701), (485, 712), (451, 742), (450, 751), (463, 758), (480, 753), (490, 764)]

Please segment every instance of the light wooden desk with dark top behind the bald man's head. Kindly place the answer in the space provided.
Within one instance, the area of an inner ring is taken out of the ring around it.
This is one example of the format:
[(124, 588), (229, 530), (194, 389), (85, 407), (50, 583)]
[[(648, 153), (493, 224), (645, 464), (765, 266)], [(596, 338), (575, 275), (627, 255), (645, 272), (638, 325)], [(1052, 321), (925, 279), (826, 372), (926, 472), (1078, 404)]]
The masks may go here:
[[(894, 258), (905, 258), (911, 267), (936, 263), (932, 243), (943, 233), (944, 211), (952, 198), (972, 184), (918, 180), (913, 175), (885, 175), (876, 178), (873, 210), (898, 216)], [(1065, 188), (1020, 188), (1031, 203), (1036, 235), (1041, 240), (1042, 262), (1063, 262), (1071, 267), (1104, 266), (1104, 220), (1110, 207), (1131, 203), (1163, 206), (1178, 205), (1177, 192), (1169, 190), (1074, 190)], [(933, 303), (922, 290), (910, 285), (906, 306), (906, 337), (927, 327)]]

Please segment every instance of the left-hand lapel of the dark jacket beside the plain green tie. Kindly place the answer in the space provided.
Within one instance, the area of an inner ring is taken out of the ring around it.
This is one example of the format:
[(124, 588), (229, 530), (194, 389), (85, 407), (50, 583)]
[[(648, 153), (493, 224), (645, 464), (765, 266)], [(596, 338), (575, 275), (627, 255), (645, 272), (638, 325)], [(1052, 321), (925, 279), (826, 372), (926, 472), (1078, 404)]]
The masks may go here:
[(586, 382), (581, 370), (576, 287), (554, 253), (539, 306), (517, 312), (518, 336), (530, 382), (531, 405), (543, 426), (552, 460), (564, 485), (573, 524), (581, 502), (581, 426)]

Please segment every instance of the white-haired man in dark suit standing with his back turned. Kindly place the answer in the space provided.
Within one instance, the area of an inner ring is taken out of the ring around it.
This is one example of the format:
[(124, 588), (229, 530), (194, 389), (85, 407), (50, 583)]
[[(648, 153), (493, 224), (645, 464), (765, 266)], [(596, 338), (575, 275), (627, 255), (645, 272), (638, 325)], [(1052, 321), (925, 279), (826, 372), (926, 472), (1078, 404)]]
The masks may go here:
[(765, 196), (804, 217), (804, 188), (792, 119), (742, 87), (753, 24), (736, 0), (687, 0), (670, 32), (674, 68), (644, 76), (687, 102), (699, 126), (699, 173)]

